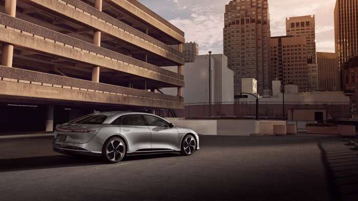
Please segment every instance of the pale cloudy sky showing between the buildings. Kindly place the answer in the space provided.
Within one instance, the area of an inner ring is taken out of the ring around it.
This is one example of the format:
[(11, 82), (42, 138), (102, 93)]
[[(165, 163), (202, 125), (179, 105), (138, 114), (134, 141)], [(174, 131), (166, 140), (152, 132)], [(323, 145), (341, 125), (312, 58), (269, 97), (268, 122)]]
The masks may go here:
[[(139, 0), (199, 44), (199, 54), (222, 54), (222, 28), (229, 0)], [(286, 17), (316, 16), (317, 52), (334, 53), (335, 0), (269, 0), (271, 36), (286, 34)]]

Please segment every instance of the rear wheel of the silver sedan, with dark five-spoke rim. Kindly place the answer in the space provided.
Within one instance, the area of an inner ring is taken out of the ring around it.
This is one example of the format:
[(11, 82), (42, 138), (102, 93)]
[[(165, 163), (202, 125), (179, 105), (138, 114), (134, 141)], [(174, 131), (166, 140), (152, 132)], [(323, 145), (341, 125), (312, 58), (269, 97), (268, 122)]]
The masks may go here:
[(107, 163), (120, 162), (126, 153), (124, 141), (119, 137), (109, 138), (103, 145), (102, 158)]

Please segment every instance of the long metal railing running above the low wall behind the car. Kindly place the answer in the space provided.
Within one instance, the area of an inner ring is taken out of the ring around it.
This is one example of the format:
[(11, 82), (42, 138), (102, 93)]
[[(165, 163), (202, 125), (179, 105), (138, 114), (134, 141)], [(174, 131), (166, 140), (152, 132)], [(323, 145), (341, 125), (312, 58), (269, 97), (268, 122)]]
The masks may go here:
[[(350, 118), (348, 102), (285, 102), (285, 111), (289, 110), (325, 110), (327, 118)], [(283, 116), (282, 102), (259, 103), (260, 119), (287, 119)], [(211, 114), (210, 114), (211, 111)], [(226, 103), (190, 103), (185, 110), (175, 111), (182, 118), (255, 118), (256, 102)]]

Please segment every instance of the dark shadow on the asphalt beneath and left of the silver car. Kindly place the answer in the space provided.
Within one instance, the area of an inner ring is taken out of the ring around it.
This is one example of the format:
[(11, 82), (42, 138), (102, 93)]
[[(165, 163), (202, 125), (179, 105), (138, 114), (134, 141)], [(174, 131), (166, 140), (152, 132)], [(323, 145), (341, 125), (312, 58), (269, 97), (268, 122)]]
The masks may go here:
[[(136, 161), (155, 158), (166, 158), (180, 156), (177, 154), (156, 154), (156, 155), (141, 155), (129, 156), (123, 161)], [(21, 170), (35, 170), (35, 169), (49, 169), (61, 167), (78, 167), (89, 165), (105, 165), (106, 163), (100, 157), (91, 156), (40, 156), (29, 158), (16, 159), (0, 159), (0, 172), (21, 171)]]

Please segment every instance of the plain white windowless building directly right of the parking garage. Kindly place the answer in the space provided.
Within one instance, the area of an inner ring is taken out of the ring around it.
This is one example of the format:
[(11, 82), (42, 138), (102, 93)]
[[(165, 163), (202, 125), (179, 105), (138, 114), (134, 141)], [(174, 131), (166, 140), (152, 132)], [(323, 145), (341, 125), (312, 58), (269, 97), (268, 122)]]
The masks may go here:
[[(164, 67), (176, 71), (174, 67)], [(234, 102), (234, 72), (228, 68), (228, 58), (223, 54), (211, 55), (212, 102)], [(195, 62), (183, 66), (185, 103), (209, 102), (209, 55), (195, 57)], [(165, 94), (175, 95), (176, 88), (164, 88)]]

